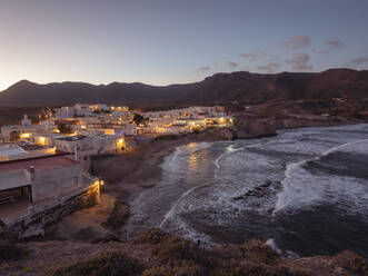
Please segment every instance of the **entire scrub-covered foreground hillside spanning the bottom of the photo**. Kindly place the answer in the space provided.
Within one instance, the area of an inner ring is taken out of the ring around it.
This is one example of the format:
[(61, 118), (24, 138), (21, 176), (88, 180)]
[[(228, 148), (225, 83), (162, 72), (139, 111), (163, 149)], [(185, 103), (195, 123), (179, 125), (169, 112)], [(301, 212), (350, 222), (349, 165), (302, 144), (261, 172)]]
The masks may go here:
[(1, 241), (0, 247), (0, 260), (7, 262), (1, 275), (9, 276), (359, 276), (368, 272), (365, 259), (351, 252), (291, 259), (257, 239), (205, 248), (159, 229), (130, 243)]

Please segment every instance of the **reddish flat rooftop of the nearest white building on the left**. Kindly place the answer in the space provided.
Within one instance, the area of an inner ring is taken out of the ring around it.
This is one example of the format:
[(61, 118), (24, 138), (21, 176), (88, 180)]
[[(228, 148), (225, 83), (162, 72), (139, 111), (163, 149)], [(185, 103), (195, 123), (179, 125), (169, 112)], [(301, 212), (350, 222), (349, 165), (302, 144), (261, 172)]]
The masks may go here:
[(29, 169), (30, 166), (33, 166), (36, 171), (42, 171), (77, 166), (78, 164), (78, 161), (67, 156), (47, 156), (0, 162), (0, 172), (16, 169)]

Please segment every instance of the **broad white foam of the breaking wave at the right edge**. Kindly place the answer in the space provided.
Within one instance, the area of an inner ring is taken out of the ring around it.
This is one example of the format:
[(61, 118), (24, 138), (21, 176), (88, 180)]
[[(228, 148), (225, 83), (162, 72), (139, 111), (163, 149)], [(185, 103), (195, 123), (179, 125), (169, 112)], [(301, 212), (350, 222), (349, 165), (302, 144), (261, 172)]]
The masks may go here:
[(367, 141), (368, 139), (346, 142), (326, 150), (319, 157), (289, 164), (285, 170), (285, 179), (281, 181), (284, 189), (278, 195), (273, 214), (284, 208), (300, 208), (322, 201), (339, 200), (351, 201), (350, 208), (365, 214), (367, 207), (359, 208), (359, 206), (364, 206), (361, 201), (368, 200), (366, 180), (321, 172), (312, 175), (304, 166), (308, 161), (318, 160), (337, 151), (362, 152), (367, 150)]

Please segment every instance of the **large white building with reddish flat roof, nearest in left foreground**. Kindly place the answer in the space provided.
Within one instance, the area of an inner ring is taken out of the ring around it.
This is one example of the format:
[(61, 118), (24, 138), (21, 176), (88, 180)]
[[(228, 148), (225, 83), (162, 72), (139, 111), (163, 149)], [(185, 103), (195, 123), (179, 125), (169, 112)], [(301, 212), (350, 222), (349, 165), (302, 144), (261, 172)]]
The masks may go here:
[(64, 155), (0, 162), (0, 220), (11, 225), (64, 203), (100, 183)]

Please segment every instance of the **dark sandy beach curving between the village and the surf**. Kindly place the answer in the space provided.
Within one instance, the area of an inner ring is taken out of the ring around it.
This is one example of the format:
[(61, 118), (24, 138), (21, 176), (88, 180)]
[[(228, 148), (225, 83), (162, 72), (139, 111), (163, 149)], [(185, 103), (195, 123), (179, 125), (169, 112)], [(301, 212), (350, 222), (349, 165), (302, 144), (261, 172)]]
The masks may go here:
[(119, 200), (128, 200), (152, 187), (161, 177), (160, 164), (177, 147), (190, 142), (215, 141), (206, 135), (191, 135), (175, 140), (152, 140), (136, 151), (93, 159), (95, 174), (107, 181), (103, 191)]

